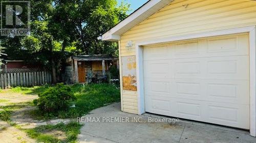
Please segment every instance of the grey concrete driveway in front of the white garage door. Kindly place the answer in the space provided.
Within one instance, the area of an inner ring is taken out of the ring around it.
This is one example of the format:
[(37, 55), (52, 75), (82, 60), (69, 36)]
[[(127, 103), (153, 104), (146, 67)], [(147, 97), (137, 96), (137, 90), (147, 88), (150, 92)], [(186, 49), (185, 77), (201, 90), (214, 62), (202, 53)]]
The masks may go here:
[[(90, 115), (83, 117), (87, 119), (100, 118), (100, 122), (84, 123), (79, 135), (82, 143), (113, 143), (113, 142), (251, 142), (255, 143), (256, 138), (249, 135), (249, 132), (215, 126), (210, 124), (180, 121), (179, 123), (106, 123), (108, 117), (142, 118), (143, 121), (149, 117), (157, 117), (151, 114), (137, 116), (120, 111), (120, 103), (95, 109)], [(166, 118), (166, 117), (161, 117)]]

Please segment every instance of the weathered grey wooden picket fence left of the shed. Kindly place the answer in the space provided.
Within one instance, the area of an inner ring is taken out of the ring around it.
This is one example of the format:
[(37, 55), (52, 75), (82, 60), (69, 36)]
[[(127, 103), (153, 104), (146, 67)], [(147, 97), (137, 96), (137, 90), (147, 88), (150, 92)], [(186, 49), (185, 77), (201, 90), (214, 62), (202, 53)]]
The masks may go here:
[(51, 73), (47, 71), (0, 73), (0, 87), (2, 89), (17, 86), (29, 87), (45, 83), (52, 83)]

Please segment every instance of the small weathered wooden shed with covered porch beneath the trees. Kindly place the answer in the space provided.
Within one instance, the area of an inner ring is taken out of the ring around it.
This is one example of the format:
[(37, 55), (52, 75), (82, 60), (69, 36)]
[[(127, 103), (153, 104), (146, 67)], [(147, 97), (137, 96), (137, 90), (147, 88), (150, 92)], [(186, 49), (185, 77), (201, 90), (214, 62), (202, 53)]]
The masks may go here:
[(111, 66), (119, 69), (118, 57), (111, 54), (71, 56), (67, 60), (66, 79), (73, 83), (84, 83), (89, 72), (95, 78), (105, 78)]

